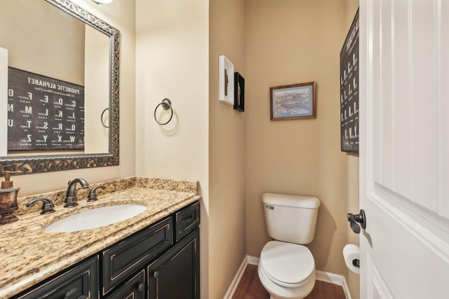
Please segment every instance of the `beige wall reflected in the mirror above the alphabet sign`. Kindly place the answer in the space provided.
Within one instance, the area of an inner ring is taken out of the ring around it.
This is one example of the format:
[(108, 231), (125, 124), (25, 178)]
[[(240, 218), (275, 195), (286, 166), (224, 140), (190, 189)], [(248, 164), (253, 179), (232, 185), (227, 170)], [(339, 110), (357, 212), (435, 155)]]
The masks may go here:
[(1, 1), (0, 47), (8, 49), (9, 67), (84, 85), (85, 26), (46, 1)]

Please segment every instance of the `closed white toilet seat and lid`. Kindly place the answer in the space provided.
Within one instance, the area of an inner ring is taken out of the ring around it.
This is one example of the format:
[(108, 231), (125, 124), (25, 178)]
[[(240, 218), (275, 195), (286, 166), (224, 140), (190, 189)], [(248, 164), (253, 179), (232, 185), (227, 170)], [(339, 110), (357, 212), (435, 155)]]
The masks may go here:
[(270, 241), (260, 253), (260, 267), (271, 281), (297, 288), (307, 284), (315, 272), (315, 261), (306, 246)]

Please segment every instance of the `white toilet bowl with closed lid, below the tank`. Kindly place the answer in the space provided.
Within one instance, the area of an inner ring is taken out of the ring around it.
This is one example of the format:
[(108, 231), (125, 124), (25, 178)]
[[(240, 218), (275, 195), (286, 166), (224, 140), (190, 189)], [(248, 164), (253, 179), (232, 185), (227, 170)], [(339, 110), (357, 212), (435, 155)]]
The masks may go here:
[(274, 299), (300, 299), (315, 285), (315, 262), (306, 246), (270, 241), (260, 253), (260, 282)]

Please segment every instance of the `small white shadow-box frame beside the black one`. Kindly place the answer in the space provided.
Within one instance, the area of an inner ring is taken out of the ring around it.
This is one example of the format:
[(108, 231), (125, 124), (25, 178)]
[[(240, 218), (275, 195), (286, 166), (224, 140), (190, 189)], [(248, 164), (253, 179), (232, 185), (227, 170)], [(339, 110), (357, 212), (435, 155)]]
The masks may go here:
[(234, 105), (234, 64), (225, 55), (218, 57), (218, 99)]

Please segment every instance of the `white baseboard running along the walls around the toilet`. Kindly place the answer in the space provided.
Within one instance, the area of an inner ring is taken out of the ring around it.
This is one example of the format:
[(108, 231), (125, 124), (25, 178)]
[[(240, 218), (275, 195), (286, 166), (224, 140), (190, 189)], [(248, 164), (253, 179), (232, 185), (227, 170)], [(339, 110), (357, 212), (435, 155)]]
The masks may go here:
[[(234, 292), (236, 291), (237, 286), (239, 285), (240, 279), (243, 276), (243, 272), (245, 272), (246, 265), (259, 265), (259, 258), (256, 258), (255, 256), (246, 256), (246, 258), (243, 259), (239, 270), (237, 270), (237, 273), (231, 281), (231, 285), (227, 289), (227, 292), (225, 294), (225, 297), (223, 299), (231, 299), (232, 295), (234, 295)], [(351, 294), (349, 293), (349, 288), (346, 283), (346, 279), (343, 275), (340, 274), (334, 274), (330, 272), (325, 272), (321, 270), (315, 270), (316, 280), (327, 282), (328, 284), (336, 284), (337, 286), (342, 286), (344, 291), (344, 296), (346, 299), (351, 299)]]

